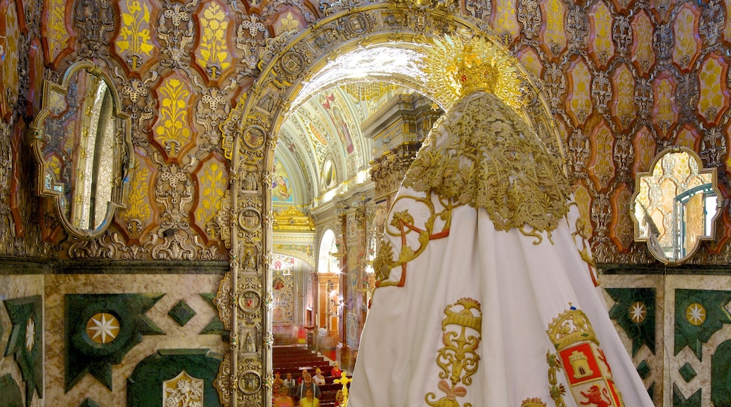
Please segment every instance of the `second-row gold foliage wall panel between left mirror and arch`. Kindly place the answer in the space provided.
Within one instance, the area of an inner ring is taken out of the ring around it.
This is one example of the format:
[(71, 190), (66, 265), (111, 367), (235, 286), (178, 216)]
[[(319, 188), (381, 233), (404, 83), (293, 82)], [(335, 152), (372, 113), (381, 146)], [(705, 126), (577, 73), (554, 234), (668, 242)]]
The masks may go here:
[(170, 77), (159, 88), (159, 119), (154, 131), (154, 138), (164, 147), (170, 157), (176, 157), (192, 139), (188, 123), (188, 106), (191, 92), (185, 83)]

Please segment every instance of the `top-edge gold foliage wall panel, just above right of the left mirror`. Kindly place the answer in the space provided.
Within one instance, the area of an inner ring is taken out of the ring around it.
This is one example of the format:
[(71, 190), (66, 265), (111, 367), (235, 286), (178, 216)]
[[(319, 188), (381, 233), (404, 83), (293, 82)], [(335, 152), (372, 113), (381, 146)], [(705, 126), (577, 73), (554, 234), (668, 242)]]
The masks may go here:
[(127, 53), (127, 63), (133, 71), (140, 69), (143, 55), (148, 57), (154, 45), (150, 35), (150, 9), (145, 1), (121, 2), (121, 28), (115, 45), (120, 54)]

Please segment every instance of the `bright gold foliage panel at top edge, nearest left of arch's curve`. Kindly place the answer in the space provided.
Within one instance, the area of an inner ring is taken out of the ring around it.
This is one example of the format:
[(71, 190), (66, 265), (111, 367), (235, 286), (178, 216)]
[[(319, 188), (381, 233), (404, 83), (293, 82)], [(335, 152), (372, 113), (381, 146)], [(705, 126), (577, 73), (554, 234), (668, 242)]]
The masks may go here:
[(210, 1), (200, 16), (202, 36), (196, 51), (197, 61), (208, 75), (216, 79), (230, 65), (226, 42), (229, 21), (216, 1)]

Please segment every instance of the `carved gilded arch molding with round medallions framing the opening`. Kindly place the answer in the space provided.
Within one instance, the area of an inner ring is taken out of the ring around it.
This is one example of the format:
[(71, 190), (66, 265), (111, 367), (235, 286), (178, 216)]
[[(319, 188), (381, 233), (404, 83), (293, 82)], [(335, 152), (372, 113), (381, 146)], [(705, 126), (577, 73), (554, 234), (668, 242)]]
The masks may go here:
[[(342, 2), (345, 3), (345, 2)], [(306, 31), (282, 34), (260, 53), (261, 74), (221, 124), (222, 144), (230, 162), (230, 190), (224, 196), (218, 222), (221, 236), (231, 250), (230, 271), (221, 280), (214, 302), (227, 330), (230, 353), (224, 357), (216, 379), (225, 406), (270, 406), (272, 207), (270, 185), (277, 132), (284, 116), (303, 86), (328, 61), (363, 47), (379, 44), (421, 44), (424, 33), (445, 34), (457, 30), (496, 38), (487, 23), (444, 7), (417, 9), (403, 3), (367, 4), (330, 8), (329, 15)], [(526, 75), (526, 80), (527, 79)], [(414, 87), (408, 78), (402, 85)], [(417, 89), (431, 96), (428, 89)], [(547, 105), (538, 95), (528, 96), (528, 109)], [(532, 107), (530, 105), (533, 105)], [(544, 111), (545, 112), (545, 111)], [(533, 115), (529, 112), (529, 115)], [(542, 138), (554, 152), (562, 151), (551, 123)], [(544, 130), (546, 130), (544, 128)], [(541, 133), (539, 131), (539, 133)], [(547, 136), (549, 135), (549, 136)], [(224, 229), (224, 228), (222, 228)], [(248, 352), (243, 338), (252, 333), (261, 349)]]

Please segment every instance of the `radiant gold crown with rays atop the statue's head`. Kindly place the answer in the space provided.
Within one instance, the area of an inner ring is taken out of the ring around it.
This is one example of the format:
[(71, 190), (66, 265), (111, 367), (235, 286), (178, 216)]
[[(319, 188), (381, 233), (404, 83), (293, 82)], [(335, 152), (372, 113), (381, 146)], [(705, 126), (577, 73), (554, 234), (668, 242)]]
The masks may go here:
[(482, 36), (444, 36), (421, 59), (427, 85), (438, 101), (449, 108), (477, 90), (493, 93), (523, 116), (518, 65), (500, 44)]

